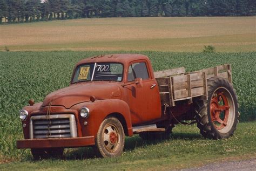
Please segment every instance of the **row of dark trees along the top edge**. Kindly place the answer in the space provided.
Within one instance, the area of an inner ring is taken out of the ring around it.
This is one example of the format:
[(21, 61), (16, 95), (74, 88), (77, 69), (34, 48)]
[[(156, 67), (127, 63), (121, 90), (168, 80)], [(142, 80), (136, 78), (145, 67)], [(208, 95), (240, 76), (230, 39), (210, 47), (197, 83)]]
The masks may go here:
[(91, 17), (254, 15), (255, 0), (0, 0), (0, 18), (8, 23)]

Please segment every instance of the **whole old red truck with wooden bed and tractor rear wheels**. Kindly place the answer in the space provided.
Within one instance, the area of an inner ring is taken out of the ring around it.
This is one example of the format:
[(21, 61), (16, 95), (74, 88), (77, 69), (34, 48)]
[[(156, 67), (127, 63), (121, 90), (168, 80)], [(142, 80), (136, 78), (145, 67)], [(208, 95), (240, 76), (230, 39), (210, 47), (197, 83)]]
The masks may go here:
[(142, 54), (81, 60), (69, 87), (29, 104), (19, 113), (24, 140), (17, 148), (30, 148), (35, 159), (85, 146), (103, 157), (118, 156), (125, 136), (169, 138), (173, 126), (186, 120), (197, 122), (206, 138), (228, 138), (239, 117), (230, 65), (153, 72)]

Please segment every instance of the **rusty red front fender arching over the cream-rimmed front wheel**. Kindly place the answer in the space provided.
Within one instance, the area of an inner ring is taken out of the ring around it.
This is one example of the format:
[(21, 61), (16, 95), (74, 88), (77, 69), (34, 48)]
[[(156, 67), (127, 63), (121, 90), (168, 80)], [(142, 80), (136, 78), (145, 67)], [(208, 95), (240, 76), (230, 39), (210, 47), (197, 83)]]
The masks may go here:
[[(96, 100), (94, 102), (90, 101), (77, 104), (71, 109), (80, 112), (82, 107), (87, 107), (90, 110), (89, 118), (79, 118), (83, 136), (96, 137), (100, 124), (108, 115), (113, 113), (123, 116), (127, 126), (127, 134), (129, 136), (133, 135), (130, 108), (125, 101), (119, 99)], [(85, 121), (87, 121), (87, 125), (84, 125)]]

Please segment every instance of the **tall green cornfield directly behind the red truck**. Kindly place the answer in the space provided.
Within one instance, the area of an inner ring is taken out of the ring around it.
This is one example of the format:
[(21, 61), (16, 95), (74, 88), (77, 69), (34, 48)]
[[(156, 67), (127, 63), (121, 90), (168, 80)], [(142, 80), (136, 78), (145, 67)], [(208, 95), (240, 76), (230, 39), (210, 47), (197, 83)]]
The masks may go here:
[(231, 64), (233, 85), (238, 94), (240, 121), (256, 119), (256, 52), (0, 52), (0, 159), (23, 159), (28, 151), (16, 149), (23, 139), (18, 112), (29, 99), (43, 101), (52, 91), (69, 86), (73, 67), (86, 57), (110, 53), (142, 53), (149, 56), (154, 71), (184, 66), (195, 71)]

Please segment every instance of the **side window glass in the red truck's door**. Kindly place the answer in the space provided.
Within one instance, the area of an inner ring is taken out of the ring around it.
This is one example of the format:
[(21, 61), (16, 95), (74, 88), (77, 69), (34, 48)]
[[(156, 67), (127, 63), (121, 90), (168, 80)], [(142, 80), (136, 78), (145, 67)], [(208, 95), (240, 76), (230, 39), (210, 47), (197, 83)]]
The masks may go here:
[(134, 81), (136, 78), (148, 79), (149, 73), (144, 62), (135, 63), (129, 66), (128, 81)]

